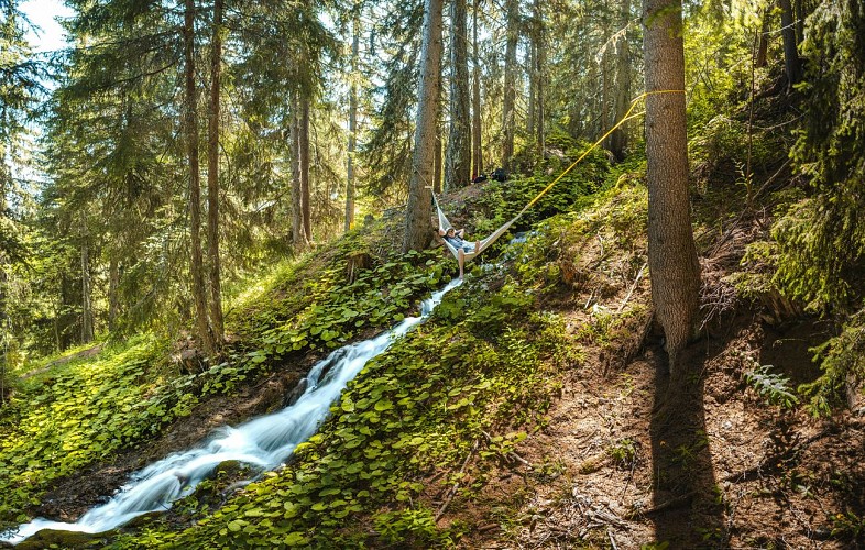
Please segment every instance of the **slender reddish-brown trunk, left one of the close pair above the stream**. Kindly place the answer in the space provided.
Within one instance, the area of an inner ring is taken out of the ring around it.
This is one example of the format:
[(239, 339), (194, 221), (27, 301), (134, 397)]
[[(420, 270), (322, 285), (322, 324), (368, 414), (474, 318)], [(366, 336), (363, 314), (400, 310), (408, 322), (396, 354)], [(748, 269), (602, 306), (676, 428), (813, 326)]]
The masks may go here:
[(185, 133), (186, 155), (189, 162), (189, 240), (190, 277), (195, 302), (198, 339), (208, 355), (215, 351), (207, 317), (204, 257), (201, 253), (201, 175), (198, 165), (198, 89), (195, 86), (195, 0), (185, 0), (184, 11), (184, 77), (186, 82)]

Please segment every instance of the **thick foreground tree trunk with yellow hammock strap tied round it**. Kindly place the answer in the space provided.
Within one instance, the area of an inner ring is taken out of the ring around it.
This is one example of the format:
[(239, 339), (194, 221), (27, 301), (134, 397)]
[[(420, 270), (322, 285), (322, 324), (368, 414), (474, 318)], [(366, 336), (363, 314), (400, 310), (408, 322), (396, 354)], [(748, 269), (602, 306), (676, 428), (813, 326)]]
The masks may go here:
[(646, 98), (652, 300), (678, 383), (678, 353), (690, 339), (700, 289), (688, 199), (681, 0), (644, 0), (643, 6), (646, 91), (681, 90)]

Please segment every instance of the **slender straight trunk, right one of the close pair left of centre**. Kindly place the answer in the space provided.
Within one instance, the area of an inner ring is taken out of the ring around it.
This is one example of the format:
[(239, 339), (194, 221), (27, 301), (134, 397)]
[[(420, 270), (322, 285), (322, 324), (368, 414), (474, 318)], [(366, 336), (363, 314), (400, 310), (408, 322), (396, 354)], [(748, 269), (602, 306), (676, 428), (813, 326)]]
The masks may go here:
[(213, 344), (222, 343), (222, 280), (219, 257), (219, 116), (222, 73), (222, 3), (213, 0), (213, 40), (210, 44), (210, 105), (207, 118), (207, 256), (210, 275), (210, 323)]

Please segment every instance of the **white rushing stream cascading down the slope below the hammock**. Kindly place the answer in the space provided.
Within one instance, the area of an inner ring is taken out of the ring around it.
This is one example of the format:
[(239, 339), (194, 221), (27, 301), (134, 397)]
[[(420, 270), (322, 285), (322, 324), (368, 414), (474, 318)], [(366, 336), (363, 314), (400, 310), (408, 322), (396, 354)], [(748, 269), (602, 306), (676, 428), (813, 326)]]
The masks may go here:
[(3, 534), (0, 541), (18, 543), (42, 529), (102, 532), (143, 514), (166, 510), (226, 461), (244, 462), (262, 470), (278, 466), (298, 444), (315, 435), (349, 381), (395, 339), (426, 319), (445, 294), (461, 283), (453, 279), (424, 300), (420, 317), (407, 317), (387, 332), (340, 348), (317, 363), (300, 382), (306, 384), (306, 391), (293, 405), (237, 428), (220, 428), (202, 447), (171, 454), (149, 465), (133, 474), (108, 503), (90, 509), (75, 524), (36, 518), (15, 531)]

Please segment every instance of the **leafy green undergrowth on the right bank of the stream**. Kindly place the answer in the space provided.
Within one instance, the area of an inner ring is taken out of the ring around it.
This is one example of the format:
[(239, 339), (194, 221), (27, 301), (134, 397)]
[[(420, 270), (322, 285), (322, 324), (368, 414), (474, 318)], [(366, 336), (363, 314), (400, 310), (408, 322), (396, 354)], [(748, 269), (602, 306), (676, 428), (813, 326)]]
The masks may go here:
[(518, 282), (482, 288), (479, 280), (452, 292), (426, 324), (372, 361), (284, 470), (185, 532), (154, 525), (117, 547), (452, 543), (461, 527), (436, 527), (424, 480), (437, 471), (450, 472), (442, 487), (468, 479), (459, 465), (477, 449), (463, 488), (470, 497), (485, 463), (513, 451), (522, 430), (544, 426), (556, 373), (578, 358), (561, 318), (538, 314)]

